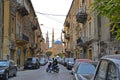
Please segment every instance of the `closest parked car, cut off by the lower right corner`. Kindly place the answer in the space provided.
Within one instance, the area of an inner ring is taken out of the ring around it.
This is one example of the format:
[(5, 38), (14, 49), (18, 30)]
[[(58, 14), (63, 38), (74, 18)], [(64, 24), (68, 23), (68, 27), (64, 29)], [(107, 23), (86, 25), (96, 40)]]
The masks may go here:
[(120, 54), (102, 57), (92, 80), (120, 80)]

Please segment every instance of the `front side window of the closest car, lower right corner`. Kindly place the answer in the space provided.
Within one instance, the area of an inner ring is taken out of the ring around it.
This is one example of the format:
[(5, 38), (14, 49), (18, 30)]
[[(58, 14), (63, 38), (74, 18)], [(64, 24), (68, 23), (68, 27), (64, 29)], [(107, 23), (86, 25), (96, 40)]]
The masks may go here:
[(97, 69), (97, 73), (95, 75), (95, 80), (105, 80), (106, 79), (107, 65), (108, 65), (108, 62), (105, 60), (100, 62), (100, 65)]

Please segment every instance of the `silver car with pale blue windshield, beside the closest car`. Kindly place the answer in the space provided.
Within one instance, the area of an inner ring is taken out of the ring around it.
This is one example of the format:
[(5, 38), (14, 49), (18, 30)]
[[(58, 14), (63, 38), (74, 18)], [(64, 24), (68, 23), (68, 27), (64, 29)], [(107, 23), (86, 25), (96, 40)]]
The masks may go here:
[(95, 66), (88, 62), (78, 62), (72, 69), (74, 80), (91, 80), (95, 73)]

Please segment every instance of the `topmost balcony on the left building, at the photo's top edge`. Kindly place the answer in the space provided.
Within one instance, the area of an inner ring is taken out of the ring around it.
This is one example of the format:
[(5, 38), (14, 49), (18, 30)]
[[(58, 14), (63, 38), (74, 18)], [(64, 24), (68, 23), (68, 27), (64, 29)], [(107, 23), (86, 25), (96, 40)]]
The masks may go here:
[(21, 13), (22, 16), (29, 15), (30, 10), (25, 0), (17, 0), (17, 11)]

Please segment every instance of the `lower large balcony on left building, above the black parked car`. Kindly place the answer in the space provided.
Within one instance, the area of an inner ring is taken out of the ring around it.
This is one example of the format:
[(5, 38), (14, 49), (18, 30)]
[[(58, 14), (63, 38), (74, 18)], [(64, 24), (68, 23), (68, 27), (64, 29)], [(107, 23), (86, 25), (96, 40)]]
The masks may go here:
[(17, 34), (16, 35), (16, 43), (18, 45), (24, 45), (29, 42), (29, 37), (24, 34)]

